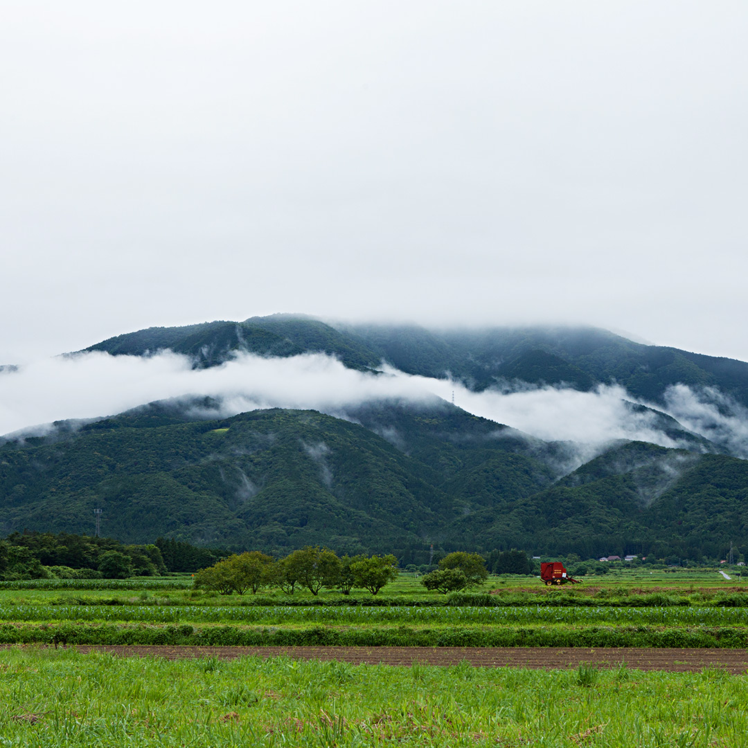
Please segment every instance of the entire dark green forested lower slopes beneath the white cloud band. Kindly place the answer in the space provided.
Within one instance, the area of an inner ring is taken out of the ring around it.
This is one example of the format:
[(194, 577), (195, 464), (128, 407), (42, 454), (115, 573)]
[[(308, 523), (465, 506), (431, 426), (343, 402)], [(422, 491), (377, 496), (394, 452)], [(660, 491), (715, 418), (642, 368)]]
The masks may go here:
[(748, 551), (748, 462), (623, 442), (568, 473), (548, 444), (446, 402), (253, 411), (189, 420), (156, 403), (79, 430), (0, 445), (0, 530), (102, 531), (284, 554), (444, 550)]

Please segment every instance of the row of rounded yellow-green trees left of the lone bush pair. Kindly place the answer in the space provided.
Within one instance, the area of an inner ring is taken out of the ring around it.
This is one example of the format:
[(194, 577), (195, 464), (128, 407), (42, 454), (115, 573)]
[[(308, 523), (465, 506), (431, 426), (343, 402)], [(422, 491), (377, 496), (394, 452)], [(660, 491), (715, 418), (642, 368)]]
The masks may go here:
[(343, 595), (349, 595), (354, 587), (376, 595), (397, 574), (397, 560), (392, 554), (340, 558), (328, 548), (307, 546), (277, 561), (260, 551), (234, 554), (198, 571), (194, 586), (221, 595), (243, 595), (248, 591), (254, 595), (271, 586), (287, 595), (292, 595), (297, 587), (308, 589), (313, 595), (319, 595), (323, 588), (340, 589)]

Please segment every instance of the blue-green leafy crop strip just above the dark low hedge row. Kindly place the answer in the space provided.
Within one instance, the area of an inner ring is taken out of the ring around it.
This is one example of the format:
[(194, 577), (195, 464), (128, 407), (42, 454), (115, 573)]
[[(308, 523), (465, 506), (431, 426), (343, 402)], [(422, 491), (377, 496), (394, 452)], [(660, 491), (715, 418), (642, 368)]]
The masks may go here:
[(717, 607), (237, 607), (197, 605), (0, 606), (4, 621), (243, 622), (264, 625), (748, 625), (748, 609)]

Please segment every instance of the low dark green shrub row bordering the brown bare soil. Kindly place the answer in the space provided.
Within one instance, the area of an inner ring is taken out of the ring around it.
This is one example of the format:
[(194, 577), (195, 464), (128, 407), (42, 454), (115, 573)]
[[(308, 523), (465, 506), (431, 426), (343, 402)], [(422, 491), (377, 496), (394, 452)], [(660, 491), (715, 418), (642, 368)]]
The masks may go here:
[(677, 647), (744, 648), (744, 628), (699, 627), (655, 629), (638, 627), (587, 628), (554, 631), (543, 628), (500, 628), (492, 630), (439, 630), (390, 627), (338, 630), (324, 626), (310, 628), (242, 628), (190, 625), (118, 626), (85, 625), (0, 625), (3, 644), (99, 644), (99, 645), (193, 645), (193, 646), (420, 646), (420, 647)]

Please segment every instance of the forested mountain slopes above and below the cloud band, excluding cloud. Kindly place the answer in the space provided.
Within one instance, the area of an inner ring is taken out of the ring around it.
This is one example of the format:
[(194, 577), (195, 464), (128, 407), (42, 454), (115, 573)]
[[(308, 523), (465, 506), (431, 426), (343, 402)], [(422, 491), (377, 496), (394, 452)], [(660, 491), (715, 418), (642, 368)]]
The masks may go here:
[[(432, 543), (583, 558), (700, 559), (731, 542), (748, 552), (740, 361), (593, 328), (426, 330), (293, 315), (149, 328), (87, 350), (165, 349), (196, 368), (242, 352), (322, 352), (355, 370), (451, 377), (476, 392), (618, 384), (655, 406), (618, 401), (625, 416), (678, 449), (543, 441), (436, 397), (224, 418), (220, 399), (194, 396), (0, 440), (0, 533), (91, 533), (101, 508), (102, 532), (123, 542), (164, 536), (276, 554), (328, 545), (420, 563)], [(678, 384), (711, 397), (700, 434), (664, 412)]]

